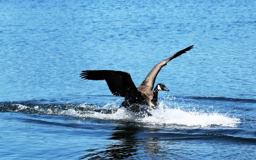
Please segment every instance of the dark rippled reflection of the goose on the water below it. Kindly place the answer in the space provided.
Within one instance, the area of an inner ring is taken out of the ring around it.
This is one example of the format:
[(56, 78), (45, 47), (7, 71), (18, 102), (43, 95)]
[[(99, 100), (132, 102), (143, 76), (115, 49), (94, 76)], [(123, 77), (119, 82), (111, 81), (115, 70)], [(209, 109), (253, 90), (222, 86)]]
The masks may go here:
[[(80, 159), (99, 160), (113, 158), (122, 160), (125, 158), (156, 156), (161, 151), (160, 145), (158, 145), (159, 138), (138, 138), (137, 134), (145, 132), (143, 129), (135, 124), (123, 123), (113, 129), (113, 133), (108, 139), (114, 140), (113, 144), (108, 144), (102, 148), (88, 149), (86, 150), (87, 154), (80, 157)], [(140, 153), (141, 151), (143, 153)]]

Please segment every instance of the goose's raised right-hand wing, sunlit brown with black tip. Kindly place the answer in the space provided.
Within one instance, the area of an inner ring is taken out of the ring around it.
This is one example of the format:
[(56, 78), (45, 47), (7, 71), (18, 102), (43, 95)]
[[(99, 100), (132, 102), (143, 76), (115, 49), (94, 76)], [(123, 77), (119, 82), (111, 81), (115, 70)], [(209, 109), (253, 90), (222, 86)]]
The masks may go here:
[(163, 61), (160, 61), (158, 64), (156, 64), (153, 69), (148, 73), (145, 80), (140, 84), (139, 89), (140, 90), (153, 90), (154, 83), (157, 77), (157, 74), (160, 72), (161, 68), (167, 64), (167, 62), (171, 61), (172, 59), (176, 58), (177, 56), (182, 55), (183, 53), (186, 53), (190, 49), (193, 48), (194, 45), (189, 46), (183, 50), (180, 50), (179, 52), (173, 54), (167, 59), (164, 59)]

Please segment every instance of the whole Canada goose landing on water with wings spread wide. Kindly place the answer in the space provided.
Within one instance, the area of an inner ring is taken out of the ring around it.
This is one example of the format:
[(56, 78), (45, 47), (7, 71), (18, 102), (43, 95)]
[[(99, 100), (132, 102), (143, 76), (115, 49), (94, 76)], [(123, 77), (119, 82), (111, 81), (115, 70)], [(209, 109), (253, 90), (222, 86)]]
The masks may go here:
[(80, 77), (81, 79), (105, 80), (113, 95), (125, 97), (125, 100), (122, 102), (120, 107), (123, 106), (125, 108), (129, 108), (134, 112), (139, 111), (138, 105), (148, 105), (152, 108), (156, 108), (158, 105), (158, 91), (169, 91), (163, 83), (157, 84), (152, 91), (157, 74), (160, 72), (161, 68), (167, 64), (167, 62), (171, 61), (179, 55), (182, 55), (183, 53), (186, 53), (186, 51), (192, 49), (193, 46), (187, 47), (156, 64), (139, 87), (135, 86), (129, 73), (122, 71), (84, 70), (80, 74)]

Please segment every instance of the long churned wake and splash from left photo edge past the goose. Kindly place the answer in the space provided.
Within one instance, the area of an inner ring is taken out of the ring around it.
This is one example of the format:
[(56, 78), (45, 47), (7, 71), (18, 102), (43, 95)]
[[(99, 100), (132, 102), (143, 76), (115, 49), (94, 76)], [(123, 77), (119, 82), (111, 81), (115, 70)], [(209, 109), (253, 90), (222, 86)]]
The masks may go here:
[[(217, 112), (188, 110), (166, 105), (160, 102), (157, 109), (144, 106), (142, 113), (132, 113), (126, 108), (119, 108), (115, 102), (104, 106), (94, 104), (36, 104), (32, 101), (5, 102), (0, 105), (2, 112), (22, 112), (49, 115), (76, 116), (81, 119), (108, 119), (137, 122), (149, 125), (179, 125), (188, 127), (231, 127), (240, 123), (240, 119)], [(149, 114), (151, 116), (148, 116)]]

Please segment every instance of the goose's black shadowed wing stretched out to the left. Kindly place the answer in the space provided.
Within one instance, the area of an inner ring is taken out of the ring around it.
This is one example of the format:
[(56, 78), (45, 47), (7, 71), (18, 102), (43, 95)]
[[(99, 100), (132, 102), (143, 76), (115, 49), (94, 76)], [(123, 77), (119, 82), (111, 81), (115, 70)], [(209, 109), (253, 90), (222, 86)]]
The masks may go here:
[(115, 70), (84, 70), (80, 74), (81, 79), (105, 80), (109, 90), (115, 96), (135, 97), (140, 94), (127, 72)]

